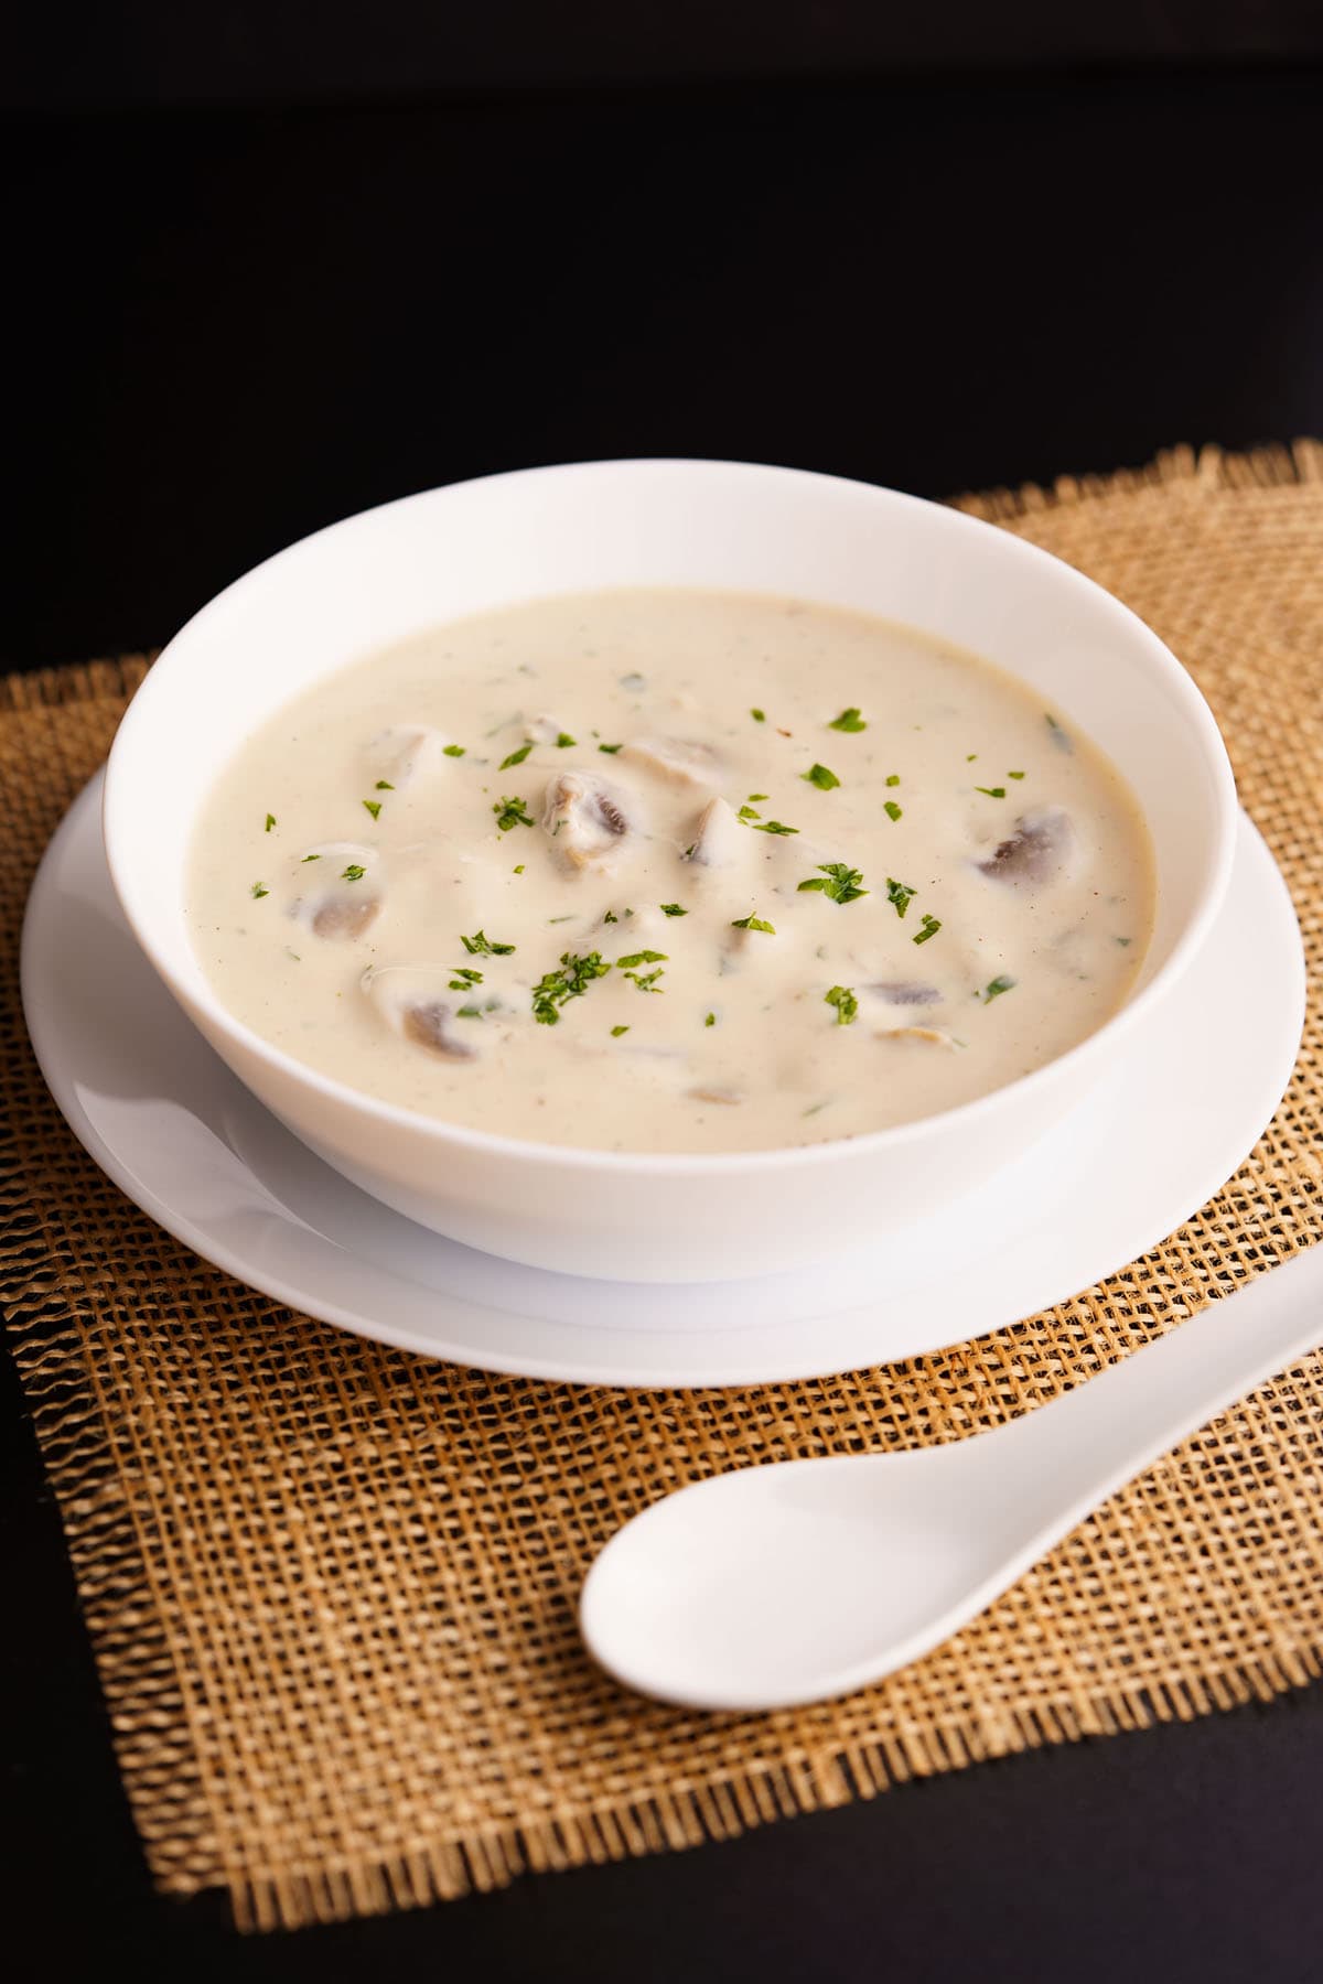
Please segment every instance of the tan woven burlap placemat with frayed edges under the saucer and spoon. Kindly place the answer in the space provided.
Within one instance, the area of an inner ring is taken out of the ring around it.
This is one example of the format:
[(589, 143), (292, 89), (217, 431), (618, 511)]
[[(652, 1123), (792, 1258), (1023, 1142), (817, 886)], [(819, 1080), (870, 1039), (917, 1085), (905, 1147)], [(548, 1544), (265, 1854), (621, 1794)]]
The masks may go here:
[(0, 1272), (163, 1889), (224, 1885), (262, 1926), (369, 1913), (720, 1839), (1319, 1674), (1317, 1357), (851, 1700), (692, 1716), (627, 1696), (579, 1651), (589, 1559), (664, 1490), (1000, 1425), (1323, 1234), (1323, 448), (1186, 450), (964, 506), (1091, 571), (1190, 665), (1295, 895), (1315, 996), (1273, 1127), (1168, 1242), (1014, 1329), (827, 1383), (488, 1379), (292, 1315), (161, 1234), (58, 1117), (14, 972), (38, 855), (143, 663), (0, 692)]

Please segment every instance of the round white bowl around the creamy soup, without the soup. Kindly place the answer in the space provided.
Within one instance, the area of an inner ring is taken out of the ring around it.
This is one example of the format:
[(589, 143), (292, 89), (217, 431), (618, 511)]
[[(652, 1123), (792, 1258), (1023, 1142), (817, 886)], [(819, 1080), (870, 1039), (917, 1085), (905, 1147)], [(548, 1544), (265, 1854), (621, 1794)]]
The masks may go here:
[[(710, 585), (908, 621), (1000, 663), (1099, 744), (1152, 833), (1158, 907), (1127, 1006), (944, 1115), (849, 1143), (649, 1157), (413, 1115), (268, 1046), (216, 1000), (184, 925), (202, 798), (280, 704), (428, 625), (540, 593)], [(105, 851), (137, 940), (234, 1073), (319, 1157), (436, 1232), (567, 1274), (696, 1282), (801, 1266), (984, 1182), (1129, 1052), (1226, 889), (1236, 788), (1204, 698), (1127, 607), (1045, 552), (893, 490), (738, 462), (587, 462), (462, 482), (305, 538), (165, 649), (111, 750)], [(1137, 1135), (1150, 1135), (1146, 1125)], [(1099, 1180), (1105, 1190), (1105, 1180)]]

